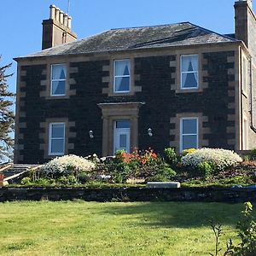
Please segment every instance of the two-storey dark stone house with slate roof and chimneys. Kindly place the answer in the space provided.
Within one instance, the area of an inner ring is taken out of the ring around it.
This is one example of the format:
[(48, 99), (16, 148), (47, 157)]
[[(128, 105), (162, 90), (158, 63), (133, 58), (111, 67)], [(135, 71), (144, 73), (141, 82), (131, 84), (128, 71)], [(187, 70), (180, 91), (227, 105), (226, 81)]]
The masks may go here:
[(15, 162), (148, 147), (255, 147), (252, 4), (235, 3), (234, 34), (182, 22), (79, 41), (71, 18), (50, 6), (43, 50), (15, 58)]

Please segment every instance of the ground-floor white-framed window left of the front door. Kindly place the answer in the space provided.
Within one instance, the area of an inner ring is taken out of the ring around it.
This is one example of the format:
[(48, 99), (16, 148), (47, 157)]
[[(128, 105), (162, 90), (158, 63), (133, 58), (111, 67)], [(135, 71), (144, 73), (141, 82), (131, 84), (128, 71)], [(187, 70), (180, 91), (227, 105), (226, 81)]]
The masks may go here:
[(49, 155), (65, 153), (65, 123), (49, 124)]

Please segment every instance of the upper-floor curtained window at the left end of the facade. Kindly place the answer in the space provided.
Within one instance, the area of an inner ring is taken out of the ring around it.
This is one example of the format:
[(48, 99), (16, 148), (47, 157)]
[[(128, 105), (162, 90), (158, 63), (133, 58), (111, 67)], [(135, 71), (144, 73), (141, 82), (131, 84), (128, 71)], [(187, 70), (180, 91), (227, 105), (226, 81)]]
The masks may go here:
[(65, 64), (51, 65), (50, 96), (66, 95), (67, 66)]

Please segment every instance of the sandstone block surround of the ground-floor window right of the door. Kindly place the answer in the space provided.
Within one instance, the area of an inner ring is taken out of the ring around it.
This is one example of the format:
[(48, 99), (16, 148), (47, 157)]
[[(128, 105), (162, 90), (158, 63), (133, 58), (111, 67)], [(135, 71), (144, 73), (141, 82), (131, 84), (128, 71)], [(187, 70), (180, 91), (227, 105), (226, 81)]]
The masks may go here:
[(197, 118), (198, 119), (198, 148), (207, 147), (209, 145), (208, 140), (204, 140), (204, 134), (210, 133), (210, 128), (203, 127), (203, 122), (208, 121), (207, 116), (203, 116), (203, 113), (177, 113), (175, 117), (170, 119), (170, 123), (175, 125), (175, 129), (170, 130), (170, 135), (174, 135), (174, 141), (170, 142), (170, 147), (176, 148), (176, 152), (181, 152), (180, 142), (180, 122), (185, 118)]

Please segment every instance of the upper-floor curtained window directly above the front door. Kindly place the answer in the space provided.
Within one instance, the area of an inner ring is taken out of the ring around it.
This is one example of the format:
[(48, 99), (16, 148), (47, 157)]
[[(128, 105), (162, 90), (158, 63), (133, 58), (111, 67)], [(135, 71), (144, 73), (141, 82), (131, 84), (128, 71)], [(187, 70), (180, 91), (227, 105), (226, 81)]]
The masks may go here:
[(131, 87), (131, 61), (114, 61), (113, 67), (113, 91), (129, 92)]

